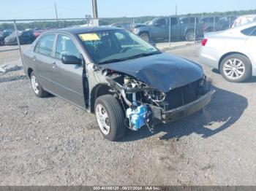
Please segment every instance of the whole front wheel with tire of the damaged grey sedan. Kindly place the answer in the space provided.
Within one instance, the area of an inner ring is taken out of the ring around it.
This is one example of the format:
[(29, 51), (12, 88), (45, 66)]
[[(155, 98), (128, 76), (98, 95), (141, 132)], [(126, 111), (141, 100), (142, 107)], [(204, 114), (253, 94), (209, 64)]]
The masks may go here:
[(94, 111), (99, 130), (105, 139), (117, 141), (124, 136), (124, 112), (113, 95), (99, 96), (95, 101)]

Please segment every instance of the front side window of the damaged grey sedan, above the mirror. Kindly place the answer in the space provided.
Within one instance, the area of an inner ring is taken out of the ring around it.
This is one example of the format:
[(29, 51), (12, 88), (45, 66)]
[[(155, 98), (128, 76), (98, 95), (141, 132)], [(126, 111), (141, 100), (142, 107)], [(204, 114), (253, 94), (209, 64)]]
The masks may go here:
[(80, 58), (80, 52), (69, 36), (59, 34), (56, 44), (56, 58), (61, 60), (62, 55), (75, 55)]

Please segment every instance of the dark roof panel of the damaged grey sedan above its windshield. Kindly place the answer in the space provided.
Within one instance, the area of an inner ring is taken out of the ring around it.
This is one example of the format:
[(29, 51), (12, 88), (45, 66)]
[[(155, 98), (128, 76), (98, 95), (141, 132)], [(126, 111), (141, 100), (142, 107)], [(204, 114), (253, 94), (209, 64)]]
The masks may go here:
[(72, 27), (72, 28), (61, 28), (57, 29), (56, 31), (63, 31), (63, 32), (69, 32), (72, 34), (83, 34), (88, 32), (97, 32), (97, 31), (112, 31), (112, 30), (123, 30), (121, 28), (117, 27)]

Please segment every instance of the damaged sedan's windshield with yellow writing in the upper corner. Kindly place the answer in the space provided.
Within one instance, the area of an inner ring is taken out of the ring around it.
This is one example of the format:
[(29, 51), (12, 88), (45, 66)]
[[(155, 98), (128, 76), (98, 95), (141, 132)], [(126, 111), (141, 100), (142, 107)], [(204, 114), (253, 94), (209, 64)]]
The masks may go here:
[(157, 48), (124, 30), (79, 34), (94, 63), (111, 63), (160, 53)]

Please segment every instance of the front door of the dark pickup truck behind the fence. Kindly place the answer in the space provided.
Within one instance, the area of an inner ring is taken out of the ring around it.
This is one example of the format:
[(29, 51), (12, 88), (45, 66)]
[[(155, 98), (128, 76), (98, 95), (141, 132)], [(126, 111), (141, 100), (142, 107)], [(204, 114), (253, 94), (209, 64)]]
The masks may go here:
[(151, 28), (153, 39), (167, 39), (168, 27), (166, 18), (159, 18)]

